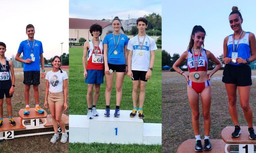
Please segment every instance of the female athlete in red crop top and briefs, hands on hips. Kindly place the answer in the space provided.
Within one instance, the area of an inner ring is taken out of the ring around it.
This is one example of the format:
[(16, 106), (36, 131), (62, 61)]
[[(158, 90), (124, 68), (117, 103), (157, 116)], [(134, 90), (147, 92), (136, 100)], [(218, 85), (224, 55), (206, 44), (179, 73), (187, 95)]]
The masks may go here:
[[(212, 91), (210, 86), (211, 76), (221, 68), (221, 62), (208, 50), (202, 48), (204, 46), (205, 31), (201, 26), (193, 28), (189, 46), (180, 58), (173, 64), (173, 69), (182, 74), (187, 81), (188, 101), (192, 111), (192, 126), (196, 136), (196, 151), (203, 150), (199, 132), (199, 93), (201, 93), (204, 131), (205, 131), (205, 145), (204, 150), (211, 150), (211, 143), (209, 140), (211, 128), (211, 97)], [(216, 63), (216, 67), (207, 74), (208, 58)], [(187, 60), (187, 67), (189, 74), (185, 73), (179, 68), (185, 60)]]

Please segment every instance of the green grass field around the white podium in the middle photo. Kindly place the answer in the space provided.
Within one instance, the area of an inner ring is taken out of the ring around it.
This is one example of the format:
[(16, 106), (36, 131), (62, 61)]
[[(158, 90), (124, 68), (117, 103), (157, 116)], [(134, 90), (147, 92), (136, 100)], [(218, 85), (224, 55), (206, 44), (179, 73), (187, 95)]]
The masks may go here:
[[(82, 64), (82, 56), (83, 49), (82, 48), (70, 48), (69, 50), (69, 68), (70, 68), (70, 79), (69, 79), (69, 98), (70, 98), (70, 114), (75, 115), (86, 115), (87, 114), (87, 102), (86, 102), (86, 93), (87, 93), (87, 84), (84, 83), (83, 77), (83, 64)], [(143, 106), (143, 113), (145, 114), (144, 122), (148, 123), (161, 123), (161, 51), (155, 52), (155, 64), (154, 70), (152, 73), (152, 78), (148, 80), (146, 86), (146, 98)], [(114, 79), (115, 82), (115, 79)], [(115, 84), (115, 83), (114, 83)], [(133, 108), (132, 104), (132, 81), (130, 78), (125, 76), (123, 83), (123, 97), (120, 104), (121, 110), (131, 110)], [(105, 78), (104, 83), (100, 87), (100, 98), (97, 104), (97, 109), (105, 109)], [(111, 93), (111, 102), (110, 108), (115, 108), (116, 103), (116, 91), (113, 87)], [(122, 115), (122, 114), (121, 114)], [(122, 146), (126, 148), (126, 150), (119, 150), (119, 152), (135, 152), (137, 147), (133, 147), (134, 145), (117, 145), (112, 144), (111, 148), (113, 150), (118, 150)], [(100, 144), (100, 143), (92, 143), (90, 145), (84, 143), (70, 143), (70, 152), (76, 152), (78, 148), (90, 148), (94, 151), (101, 150), (101, 148), (105, 148), (102, 152), (108, 152), (109, 145)], [(146, 146), (146, 145), (138, 145), (141, 149), (149, 149), (153, 152), (161, 152), (161, 146)], [(148, 152), (148, 151), (146, 151)]]

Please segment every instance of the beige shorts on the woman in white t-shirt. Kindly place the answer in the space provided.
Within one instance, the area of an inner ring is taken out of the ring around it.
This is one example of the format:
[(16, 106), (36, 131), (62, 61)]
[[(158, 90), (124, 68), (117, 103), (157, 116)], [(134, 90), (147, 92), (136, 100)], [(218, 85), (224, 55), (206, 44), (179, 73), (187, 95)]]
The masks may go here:
[(55, 104), (58, 106), (64, 105), (64, 94), (63, 91), (61, 92), (48, 92), (48, 104)]

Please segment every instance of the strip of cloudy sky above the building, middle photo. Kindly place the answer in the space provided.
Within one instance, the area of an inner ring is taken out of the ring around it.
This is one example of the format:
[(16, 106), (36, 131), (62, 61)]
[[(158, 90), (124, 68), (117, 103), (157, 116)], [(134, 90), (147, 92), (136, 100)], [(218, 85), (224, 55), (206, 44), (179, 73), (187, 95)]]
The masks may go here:
[(153, 12), (161, 15), (161, 0), (123, 0), (89, 1), (70, 0), (69, 17), (81, 19), (119, 19), (139, 18)]

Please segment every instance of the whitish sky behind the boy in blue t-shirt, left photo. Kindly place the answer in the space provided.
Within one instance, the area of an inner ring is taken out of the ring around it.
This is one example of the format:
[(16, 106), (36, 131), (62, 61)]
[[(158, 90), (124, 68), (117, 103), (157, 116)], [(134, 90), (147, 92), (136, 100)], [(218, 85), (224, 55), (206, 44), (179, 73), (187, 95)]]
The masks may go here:
[(43, 44), (43, 55), (49, 59), (69, 47), (68, 0), (1, 1), (0, 41), (6, 44), (5, 56), (16, 55), (21, 41), (26, 40), (27, 24), (35, 27), (34, 39)]

